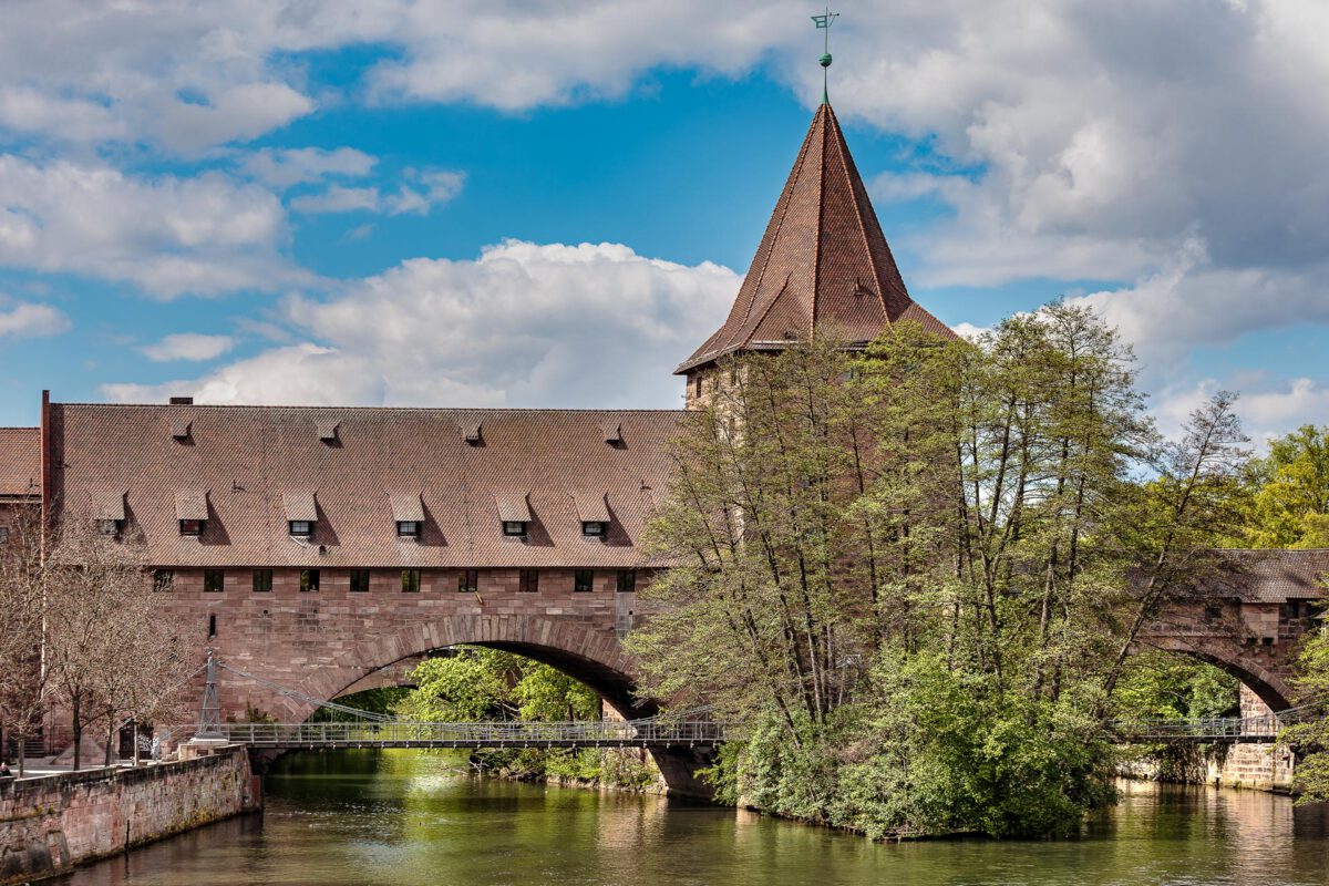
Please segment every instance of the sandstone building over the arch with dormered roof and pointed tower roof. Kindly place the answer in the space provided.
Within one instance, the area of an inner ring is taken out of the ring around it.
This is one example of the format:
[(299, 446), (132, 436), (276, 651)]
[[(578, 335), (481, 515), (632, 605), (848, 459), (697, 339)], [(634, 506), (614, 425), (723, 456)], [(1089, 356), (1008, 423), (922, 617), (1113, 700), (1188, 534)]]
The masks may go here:
[[(863, 347), (901, 320), (950, 335), (909, 298), (821, 105), (728, 317), (676, 373), (695, 406), (730, 355), (823, 332)], [(0, 502), (141, 535), (199, 656), (256, 677), (222, 687), (226, 716), (303, 719), (307, 699), (456, 643), (554, 664), (635, 716), (650, 704), (619, 639), (683, 414), (44, 395), (37, 428), (0, 430)]]

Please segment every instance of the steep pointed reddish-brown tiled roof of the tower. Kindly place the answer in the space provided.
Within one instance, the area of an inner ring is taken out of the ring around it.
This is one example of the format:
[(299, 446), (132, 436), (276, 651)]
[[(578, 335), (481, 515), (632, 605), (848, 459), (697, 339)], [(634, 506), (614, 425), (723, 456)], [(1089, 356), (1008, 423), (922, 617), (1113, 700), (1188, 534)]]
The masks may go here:
[(867, 343), (900, 320), (954, 335), (909, 298), (840, 122), (823, 104), (728, 319), (675, 373), (735, 351), (779, 349), (817, 329)]

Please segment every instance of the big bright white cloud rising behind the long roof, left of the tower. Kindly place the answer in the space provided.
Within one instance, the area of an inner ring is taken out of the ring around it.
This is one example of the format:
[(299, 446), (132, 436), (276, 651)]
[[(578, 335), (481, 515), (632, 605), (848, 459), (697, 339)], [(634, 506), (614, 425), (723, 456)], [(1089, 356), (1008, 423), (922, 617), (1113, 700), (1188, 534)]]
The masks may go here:
[(326, 299), (288, 298), (304, 341), (113, 400), (680, 405), (672, 368), (723, 320), (739, 276), (614, 243), (509, 240), (476, 260), (412, 259)]

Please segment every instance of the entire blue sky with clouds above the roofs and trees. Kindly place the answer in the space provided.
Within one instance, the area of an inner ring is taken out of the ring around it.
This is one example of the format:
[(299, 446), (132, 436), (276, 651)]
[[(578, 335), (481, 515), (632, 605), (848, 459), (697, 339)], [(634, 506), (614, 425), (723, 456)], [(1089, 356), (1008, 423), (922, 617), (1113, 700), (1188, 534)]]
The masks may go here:
[[(789, 0), (9, 0), (0, 425), (60, 401), (678, 408), (821, 96)], [(1119, 327), (1164, 430), (1329, 424), (1329, 4), (845, 1), (916, 300)]]

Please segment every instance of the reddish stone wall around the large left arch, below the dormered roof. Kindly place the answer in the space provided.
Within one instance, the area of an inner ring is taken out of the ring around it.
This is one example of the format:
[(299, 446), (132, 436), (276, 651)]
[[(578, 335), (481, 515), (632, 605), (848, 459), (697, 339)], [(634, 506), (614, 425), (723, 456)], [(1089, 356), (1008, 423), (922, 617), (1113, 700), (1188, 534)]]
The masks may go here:
[[(247, 673), (331, 699), (376, 669), (457, 643), (501, 644), (585, 680), (621, 711), (635, 713), (633, 665), (619, 636), (638, 616), (637, 594), (617, 590), (618, 571), (593, 570), (575, 591), (574, 570), (540, 570), (522, 592), (516, 569), (477, 570), (478, 592), (460, 592), (461, 570), (420, 571), (420, 591), (401, 590), (400, 569), (369, 570), (368, 592), (352, 592), (350, 570), (320, 569), (318, 592), (300, 591), (295, 569), (274, 569), (272, 590), (254, 591), (254, 570), (225, 571), (222, 591), (205, 591), (202, 570), (175, 570), (162, 606), (185, 618), (186, 639)], [(638, 570), (638, 587), (650, 575)], [(210, 635), (210, 631), (215, 634)], [(197, 699), (201, 684), (187, 688)], [(247, 708), (303, 720), (311, 708), (231, 673), (221, 680), (223, 716)]]

